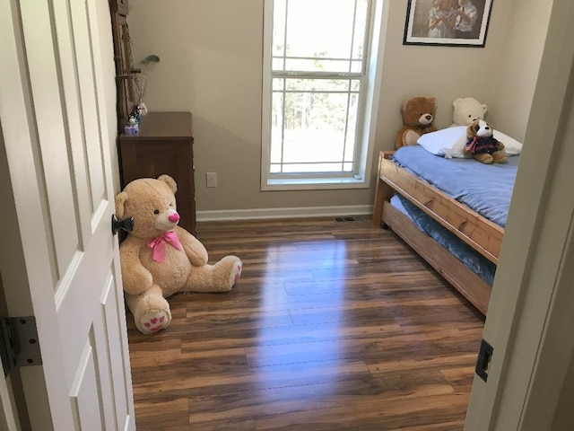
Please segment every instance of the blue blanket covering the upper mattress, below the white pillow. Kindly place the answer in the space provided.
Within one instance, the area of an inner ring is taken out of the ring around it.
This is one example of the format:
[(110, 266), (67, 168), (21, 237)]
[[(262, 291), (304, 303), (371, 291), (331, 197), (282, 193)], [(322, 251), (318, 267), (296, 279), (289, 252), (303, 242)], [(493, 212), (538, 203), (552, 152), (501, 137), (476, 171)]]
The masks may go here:
[(506, 225), (517, 176), (518, 156), (509, 163), (484, 164), (474, 159), (445, 159), (420, 145), (399, 148), (395, 161), (491, 222)]

